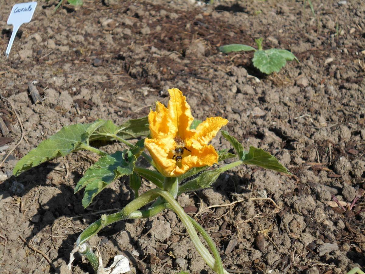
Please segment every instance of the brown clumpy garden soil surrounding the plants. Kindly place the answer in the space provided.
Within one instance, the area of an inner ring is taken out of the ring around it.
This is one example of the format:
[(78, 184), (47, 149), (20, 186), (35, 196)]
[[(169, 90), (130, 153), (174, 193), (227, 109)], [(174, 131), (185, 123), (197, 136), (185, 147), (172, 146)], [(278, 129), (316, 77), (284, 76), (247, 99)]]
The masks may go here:
[[(3, 52), (16, 2), (3, 0), (0, 11)], [(0, 159), (21, 140), (0, 170), (1, 273), (67, 273), (82, 229), (133, 198), (123, 177), (82, 207), (82, 193), (73, 190), (92, 153), (14, 178), (16, 161), (62, 126), (145, 116), (155, 101), (166, 104), (172, 87), (187, 96), (195, 118), (227, 118), (225, 129), (245, 147), (265, 149), (295, 175), (240, 166), (212, 189), (178, 198), (210, 233), (228, 271), (364, 270), (364, 1), (312, 0), (314, 14), (309, 1), (84, 2), (53, 14), (55, 1), (39, 1), (9, 58), (0, 56), (0, 93), (12, 103), (0, 100)], [(291, 50), (300, 63), (266, 76), (253, 67), (253, 53), (218, 51), (229, 43), (255, 46), (259, 37), (264, 48)], [(42, 103), (29, 95), (32, 81)], [(213, 145), (230, 147), (220, 135)], [(141, 192), (149, 188), (144, 182)], [(332, 195), (345, 207), (360, 198), (345, 212)], [(91, 244), (105, 264), (128, 256), (134, 273), (212, 273), (173, 212), (111, 225)], [(92, 269), (77, 257), (73, 273), (84, 272)]]

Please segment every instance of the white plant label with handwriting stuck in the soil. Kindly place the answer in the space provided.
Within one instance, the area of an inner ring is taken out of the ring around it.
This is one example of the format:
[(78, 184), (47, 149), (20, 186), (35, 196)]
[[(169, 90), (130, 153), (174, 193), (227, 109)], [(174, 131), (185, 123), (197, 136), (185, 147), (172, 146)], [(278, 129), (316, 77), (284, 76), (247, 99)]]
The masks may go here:
[(29, 23), (30, 20), (32, 20), (35, 7), (37, 7), (37, 2), (28, 2), (15, 4), (11, 9), (7, 24), (13, 25), (13, 32), (11, 34), (9, 44), (5, 52), (7, 56), (9, 56), (11, 46), (13, 45), (14, 38), (19, 30), (19, 27), (23, 23)]

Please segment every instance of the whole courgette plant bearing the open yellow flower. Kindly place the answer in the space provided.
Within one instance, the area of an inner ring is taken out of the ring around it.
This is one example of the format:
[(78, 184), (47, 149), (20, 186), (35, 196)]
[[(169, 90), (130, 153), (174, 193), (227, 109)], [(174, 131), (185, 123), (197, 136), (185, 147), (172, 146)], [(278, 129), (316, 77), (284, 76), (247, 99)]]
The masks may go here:
[[(257, 165), (290, 174), (274, 156), (252, 146), (249, 151), (245, 151), (243, 146), (225, 131), (222, 131), (222, 136), (234, 147), (236, 155), (228, 152), (228, 149), (216, 152), (208, 143), (228, 121), (222, 117), (207, 118), (204, 122), (194, 120), (182, 92), (172, 88), (169, 94), (167, 108), (157, 102), (156, 110), (151, 110), (148, 117), (130, 120), (121, 126), (114, 125), (110, 120), (101, 119), (89, 124), (65, 126), (49, 139), (42, 141), (14, 167), (13, 174), (17, 176), (32, 167), (72, 152), (87, 150), (96, 153), (100, 156), (99, 160), (85, 171), (75, 187), (75, 193), (84, 189), (82, 199), (84, 208), (87, 208), (96, 195), (112, 182), (122, 176), (129, 176), (130, 187), (135, 194), (134, 200), (119, 212), (101, 215), (99, 220), (89, 225), (78, 236), (76, 248), (71, 254), (70, 267), (73, 253), (79, 252), (88, 259), (95, 273), (101, 273), (98, 272), (102, 268), (99, 251), (87, 244), (91, 237), (114, 222), (128, 218), (148, 218), (169, 209), (173, 210), (183, 222), (193, 244), (207, 265), (216, 273), (228, 274), (223, 269), (214, 241), (200, 224), (184, 212), (177, 202), (177, 197), (182, 193), (210, 187), (222, 172), (241, 164)], [(135, 138), (141, 140), (135, 144), (126, 140)], [(108, 154), (90, 145), (96, 140), (123, 142), (130, 149)], [(145, 148), (150, 156), (144, 152)], [(151, 164), (151, 169), (136, 165), (139, 156)], [(234, 157), (238, 157), (237, 161), (223, 163), (224, 160)], [(216, 167), (215, 164), (219, 162), (220, 166)], [(141, 177), (154, 183), (156, 188), (139, 195)], [(149, 208), (141, 210), (151, 202), (153, 203)], [(207, 242), (213, 256), (203, 245), (197, 232)], [(122, 260), (124, 258), (118, 260), (115, 258), (114, 262), (120, 265)]]

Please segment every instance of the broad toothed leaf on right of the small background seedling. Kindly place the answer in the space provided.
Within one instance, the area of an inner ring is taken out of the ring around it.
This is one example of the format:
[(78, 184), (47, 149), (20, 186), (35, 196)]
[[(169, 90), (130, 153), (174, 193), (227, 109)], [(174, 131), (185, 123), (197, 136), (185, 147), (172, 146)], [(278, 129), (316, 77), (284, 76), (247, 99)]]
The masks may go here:
[(253, 65), (260, 69), (261, 72), (270, 74), (279, 72), (280, 69), (287, 64), (287, 60), (297, 60), (294, 54), (288, 50), (268, 49), (257, 50), (253, 57)]

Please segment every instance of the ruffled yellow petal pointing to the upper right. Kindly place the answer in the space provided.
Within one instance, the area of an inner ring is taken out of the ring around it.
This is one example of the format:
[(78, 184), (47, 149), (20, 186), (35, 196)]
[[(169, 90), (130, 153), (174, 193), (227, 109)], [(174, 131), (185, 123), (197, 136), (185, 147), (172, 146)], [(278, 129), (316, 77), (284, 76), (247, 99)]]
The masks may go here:
[(218, 133), (222, 126), (227, 125), (228, 120), (222, 117), (210, 117), (200, 123), (195, 130), (195, 134), (191, 137), (199, 142), (200, 145), (207, 145)]

